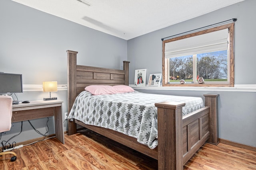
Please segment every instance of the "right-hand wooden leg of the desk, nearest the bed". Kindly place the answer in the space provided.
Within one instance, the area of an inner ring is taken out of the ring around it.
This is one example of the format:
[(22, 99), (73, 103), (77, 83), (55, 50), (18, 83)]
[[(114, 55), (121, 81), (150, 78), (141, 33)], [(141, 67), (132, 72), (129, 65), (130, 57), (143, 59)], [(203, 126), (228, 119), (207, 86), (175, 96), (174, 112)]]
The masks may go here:
[(54, 121), (56, 138), (64, 144), (64, 130), (62, 121), (62, 106), (54, 107)]

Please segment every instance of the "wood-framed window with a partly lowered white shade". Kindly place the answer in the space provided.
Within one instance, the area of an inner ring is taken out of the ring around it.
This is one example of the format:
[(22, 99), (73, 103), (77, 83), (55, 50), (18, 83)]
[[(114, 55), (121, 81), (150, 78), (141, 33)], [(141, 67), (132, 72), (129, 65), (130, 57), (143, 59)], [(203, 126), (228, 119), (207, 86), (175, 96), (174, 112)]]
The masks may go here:
[(234, 86), (233, 32), (231, 23), (164, 40), (163, 86)]

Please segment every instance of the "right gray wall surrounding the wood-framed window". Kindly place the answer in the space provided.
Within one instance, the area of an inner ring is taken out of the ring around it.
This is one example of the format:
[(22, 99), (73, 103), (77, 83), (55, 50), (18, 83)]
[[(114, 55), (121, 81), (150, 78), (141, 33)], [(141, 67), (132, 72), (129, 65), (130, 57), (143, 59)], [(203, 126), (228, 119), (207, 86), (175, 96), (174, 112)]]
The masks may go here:
[[(151, 73), (162, 72), (161, 38), (204, 27), (213, 23), (237, 18), (235, 22), (235, 84), (256, 84), (255, 38), (256, 1), (245, 0), (238, 4), (210, 12), (206, 15), (160, 29), (128, 40), (130, 61), (129, 84), (134, 83), (134, 70), (147, 68), (147, 80)], [(175, 17), (175, 16), (170, 16)], [(201, 92), (138, 90), (146, 93), (200, 96), (204, 93), (220, 94), (220, 138), (256, 147), (256, 93), (255, 92)]]

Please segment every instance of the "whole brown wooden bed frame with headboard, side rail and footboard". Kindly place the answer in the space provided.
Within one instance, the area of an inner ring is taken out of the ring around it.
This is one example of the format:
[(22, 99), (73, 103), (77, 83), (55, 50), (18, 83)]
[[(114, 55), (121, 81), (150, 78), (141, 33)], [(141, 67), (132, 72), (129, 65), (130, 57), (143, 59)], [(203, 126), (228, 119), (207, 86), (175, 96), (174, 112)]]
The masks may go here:
[[(76, 51), (68, 54), (68, 113), (76, 96), (86, 86), (129, 85), (129, 63), (124, 70), (76, 65)], [(158, 107), (158, 147), (151, 150), (137, 139), (116, 131), (68, 120), (68, 135), (76, 132), (76, 124), (104, 135), (118, 143), (158, 160), (158, 170), (181, 170), (191, 156), (207, 141), (218, 145), (218, 94), (204, 94), (205, 107), (182, 116), (181, 102), (156, 103)]]

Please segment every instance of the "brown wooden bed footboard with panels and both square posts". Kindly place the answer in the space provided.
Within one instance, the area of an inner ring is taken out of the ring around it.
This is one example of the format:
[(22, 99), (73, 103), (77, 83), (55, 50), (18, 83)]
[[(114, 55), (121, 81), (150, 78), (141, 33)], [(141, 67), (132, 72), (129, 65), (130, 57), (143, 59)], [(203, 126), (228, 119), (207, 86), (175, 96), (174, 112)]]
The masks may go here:
[(182, 117), (184, 103), (158, 107), (158, 170), (182, 170), (208, 140), (218, 144), (218, 94), (205, 94), (205, 107)]

